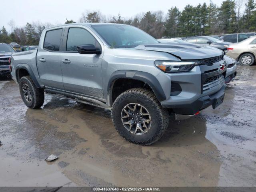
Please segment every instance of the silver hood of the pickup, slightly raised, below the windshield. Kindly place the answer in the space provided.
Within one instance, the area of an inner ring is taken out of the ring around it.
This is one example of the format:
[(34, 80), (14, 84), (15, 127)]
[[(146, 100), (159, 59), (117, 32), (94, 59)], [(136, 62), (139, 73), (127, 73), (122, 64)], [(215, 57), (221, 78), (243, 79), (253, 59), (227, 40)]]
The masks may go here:
[(220, 56), (222, 50), (211, 46), (198, 46), (194, 44), (141, 44), (134, 49), (170, 53), (181, 60), (197, 60)]

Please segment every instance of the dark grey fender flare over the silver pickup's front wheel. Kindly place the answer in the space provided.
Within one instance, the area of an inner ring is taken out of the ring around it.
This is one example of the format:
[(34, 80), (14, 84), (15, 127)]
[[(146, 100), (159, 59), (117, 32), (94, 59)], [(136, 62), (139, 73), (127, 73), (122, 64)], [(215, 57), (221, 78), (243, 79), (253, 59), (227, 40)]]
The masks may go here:
[(153, 90), (154, 94), (156, 95), (156, 98), (159, 101), (166, 100), (166, 95), (164, 94), (164, 90), (162, 89), (161, 84), (157, 80), (157, 78), (147, 72), (142, 71), (135, 71), (135, 70), (118, 70), (112, 73), (110, 76), (110, 80), (108, 82), (108, 95), (110, 96), (110, 103), (112, 104), (112, 89), (114, 86), (114, 82), (118, 79), (133, 79), (133, 80), (139, 80), (142, 82), (145, 82), (150, 86), (150, 88)]

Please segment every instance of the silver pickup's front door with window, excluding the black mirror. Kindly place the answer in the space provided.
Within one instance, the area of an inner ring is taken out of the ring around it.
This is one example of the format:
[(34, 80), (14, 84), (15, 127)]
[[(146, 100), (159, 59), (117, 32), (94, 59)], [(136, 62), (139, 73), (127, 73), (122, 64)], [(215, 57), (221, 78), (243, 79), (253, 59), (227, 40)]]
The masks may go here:
[[(63, 38), (63, 52), (60, 57), (63, 85), (66, 91), (103, 98), (102, 55), (80, 54), (76, 46), (93, 44), (100, 50), (103, 44), (88, 28), (67, 27)], [(102, 50), (103, 51), (103, 50)]]

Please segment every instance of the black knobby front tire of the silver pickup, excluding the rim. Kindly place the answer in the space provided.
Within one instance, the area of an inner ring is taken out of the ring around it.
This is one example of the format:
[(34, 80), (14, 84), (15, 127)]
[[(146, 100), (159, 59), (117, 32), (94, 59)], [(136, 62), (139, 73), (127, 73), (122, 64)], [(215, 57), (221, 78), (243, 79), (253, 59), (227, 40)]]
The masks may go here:
[[(136, 135), (124, 127), (121, 120), (123, 108), (129, 103), (138, 103), (144, 106), (152, 119), (148, 132)], [(144, 88), (133, 88), (120, 94), (114, 101), (112, 107), (112, 121), (117, 132), (129, 142), (139, 145), (150, 145), (159, 140), (169, 124), (168, 111), (162, 108), (160, 102), (153, 92)]]

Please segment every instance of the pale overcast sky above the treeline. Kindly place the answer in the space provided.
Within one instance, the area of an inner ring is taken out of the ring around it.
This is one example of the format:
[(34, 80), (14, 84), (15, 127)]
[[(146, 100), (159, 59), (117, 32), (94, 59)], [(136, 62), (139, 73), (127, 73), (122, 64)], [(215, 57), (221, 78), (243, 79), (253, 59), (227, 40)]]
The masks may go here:
[[(51, 22), (64, 24), (66, 18), (78, 22), (82, 12), (100, 10), (102, 14), (118, 15), (130, 18), (137, 13), (167, 10), (177, 6), (182, 10), (187, 4), (193, 6), (210, 0), (1, 0), (0, 27), (5, 26), (10, 31), (8, 22), (14, 20), (16, 26), (24, 26), (27, 22)], [(213, 0), (218, 6), (222, 0)]]

